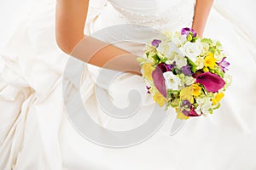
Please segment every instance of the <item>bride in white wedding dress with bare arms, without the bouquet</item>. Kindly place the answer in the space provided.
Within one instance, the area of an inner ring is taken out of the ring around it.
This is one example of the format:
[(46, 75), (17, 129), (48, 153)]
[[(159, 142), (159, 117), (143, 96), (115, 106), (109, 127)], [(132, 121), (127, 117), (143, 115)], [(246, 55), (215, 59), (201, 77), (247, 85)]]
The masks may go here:
[(214, 115), (170, 135), (174, 111), (154, 114), (140, 77), (143, 45), (183, 27), (203, 36), (212, 0), (58, 0), (55, 32), (52, 4), (36, 4), (3, 50), (0, 169), (255, 169), (255, 53), (231, 24), (213, 20), (234, 65)]

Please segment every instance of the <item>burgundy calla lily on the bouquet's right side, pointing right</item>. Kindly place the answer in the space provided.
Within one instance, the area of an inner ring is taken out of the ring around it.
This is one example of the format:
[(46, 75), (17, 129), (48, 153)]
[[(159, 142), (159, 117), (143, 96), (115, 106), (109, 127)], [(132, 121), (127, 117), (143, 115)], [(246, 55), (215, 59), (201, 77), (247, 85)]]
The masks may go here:
[(207, 92), (218, 92), (225, 85), (224, 80), (212, 72), (204, 72), (195, 76), (195, 83), (201, 83), (207, 89)]

